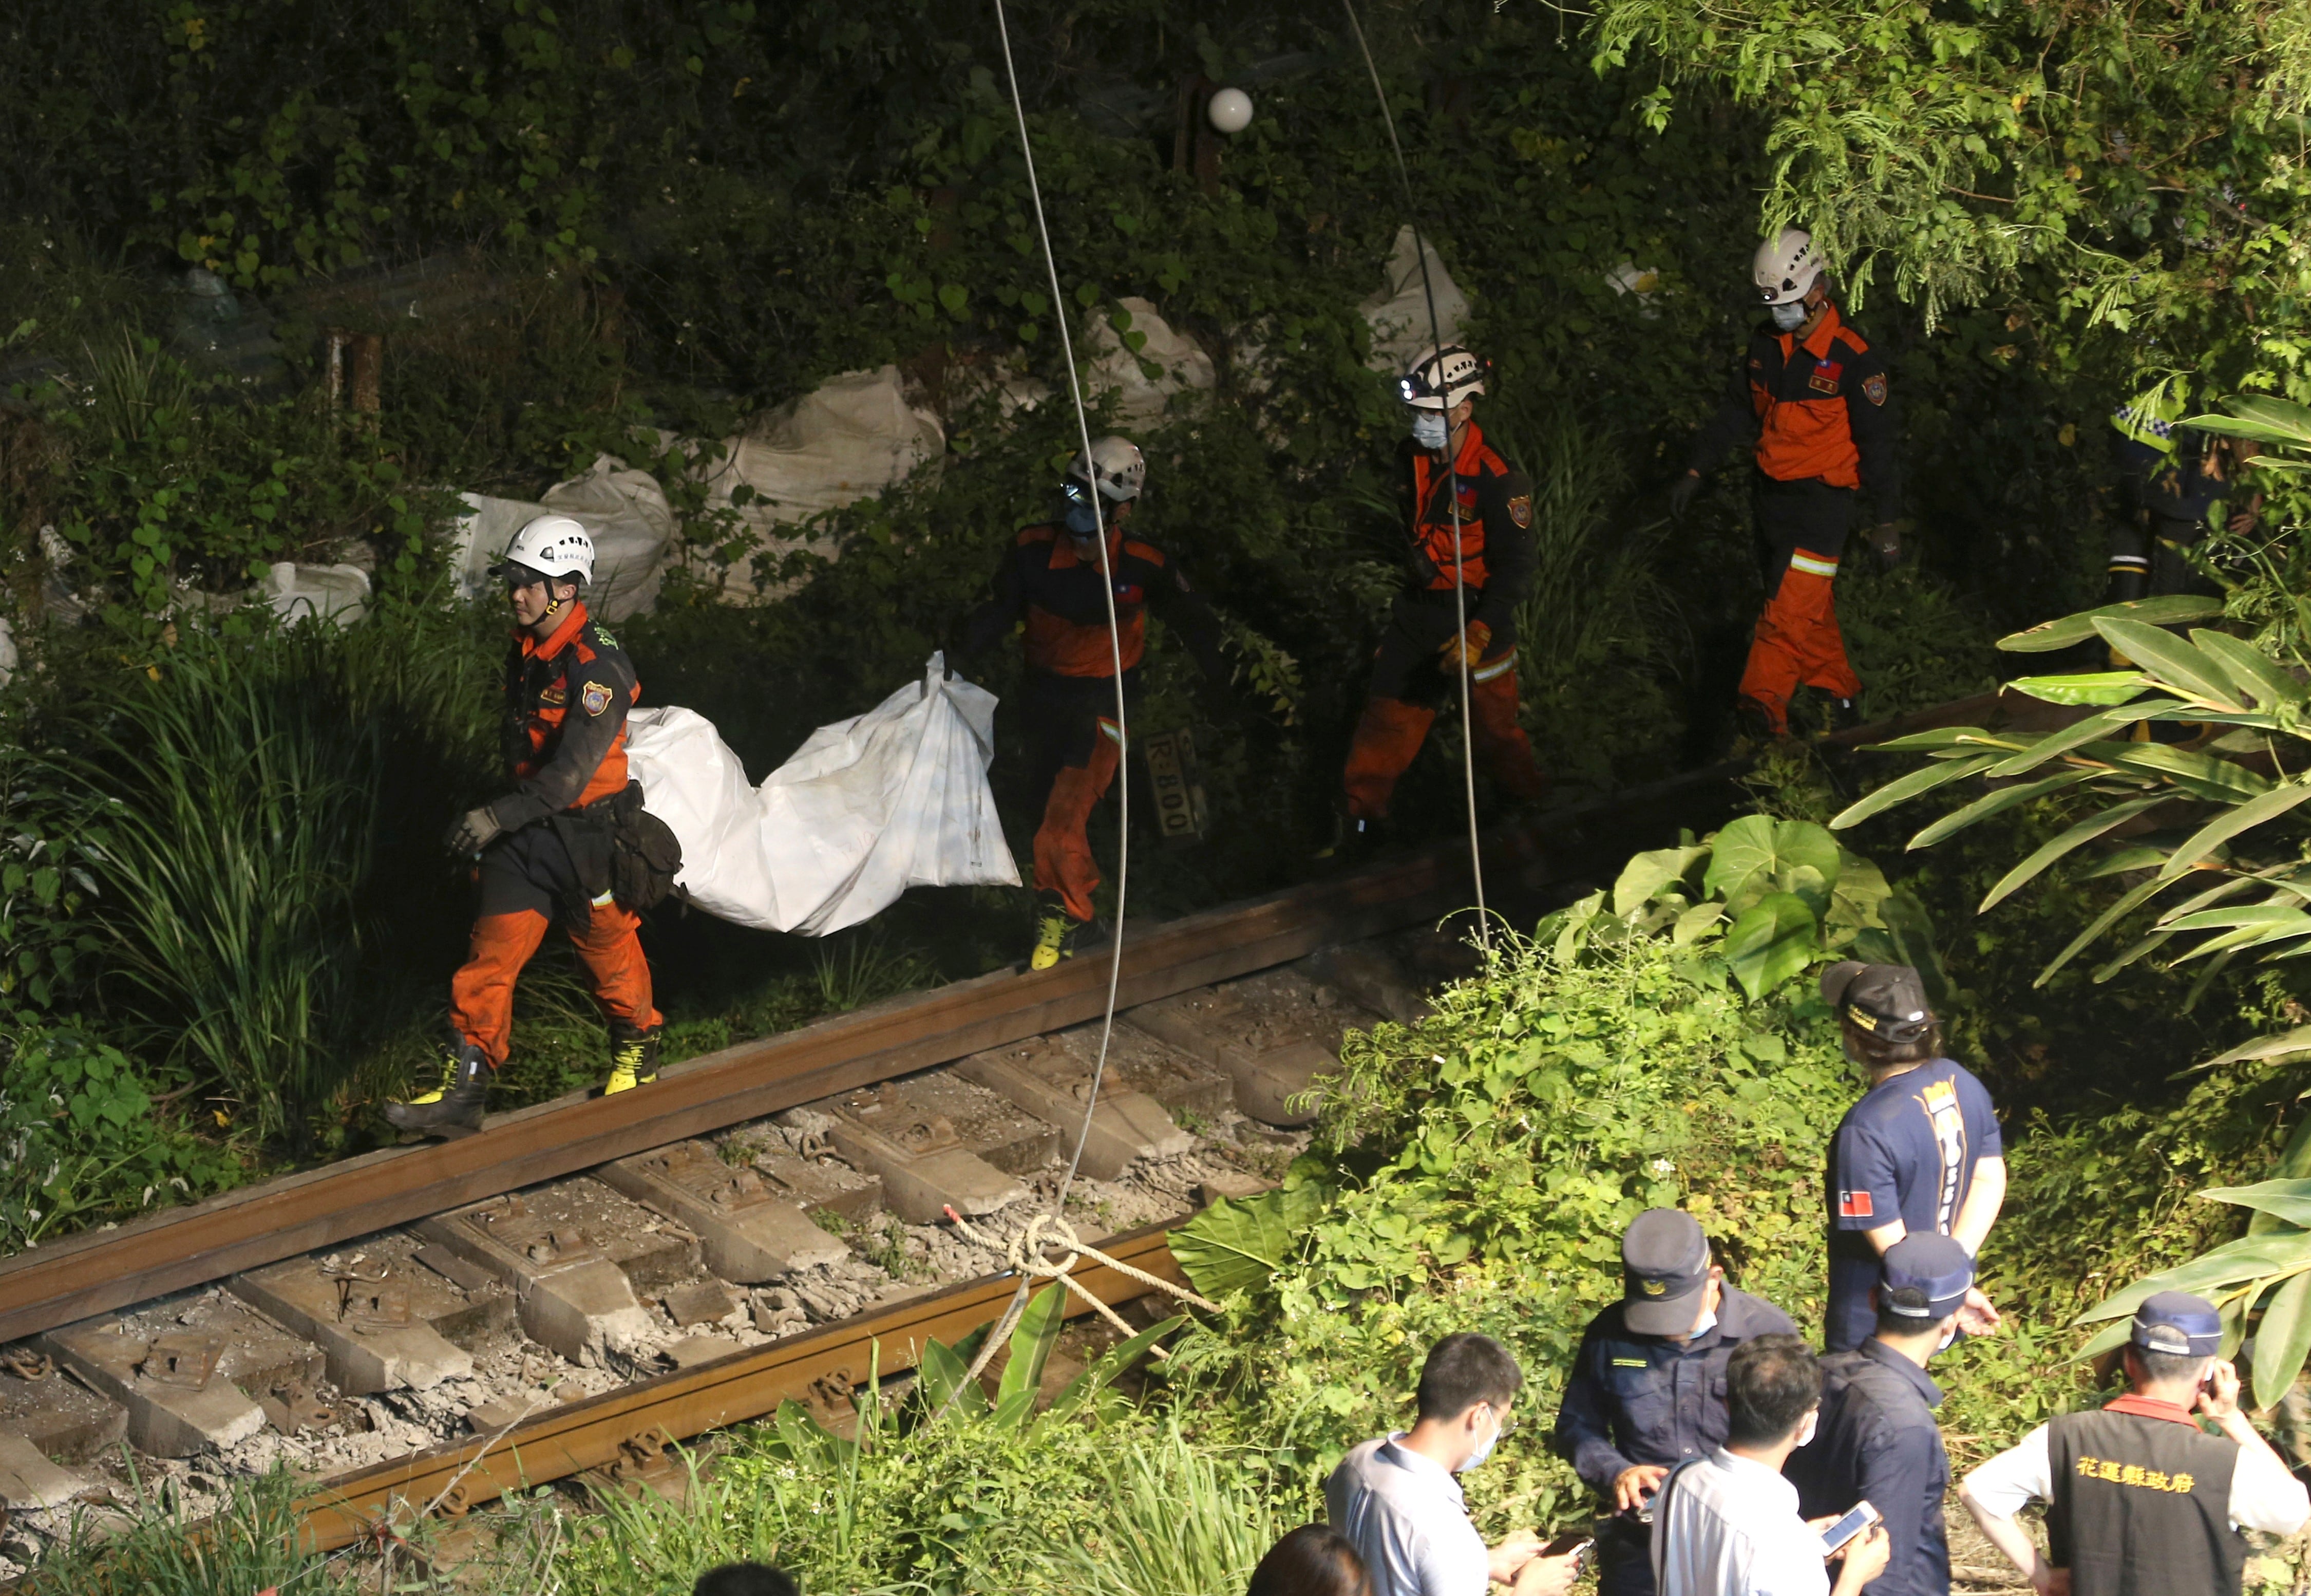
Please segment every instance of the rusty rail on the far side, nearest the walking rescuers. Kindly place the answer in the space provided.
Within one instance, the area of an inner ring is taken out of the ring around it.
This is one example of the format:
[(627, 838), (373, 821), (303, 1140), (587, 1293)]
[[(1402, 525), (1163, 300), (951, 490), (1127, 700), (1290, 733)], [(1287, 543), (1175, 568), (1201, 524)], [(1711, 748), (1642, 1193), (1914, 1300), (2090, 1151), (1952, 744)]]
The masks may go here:
[[(1717, 766), (1495, 828), (1486, 858), (1528, 886), (1618, 865), (1662, 826), (1696, 823), (1710, 805), (1724, 807), (1733, 770)], [(1433, 923), (1461, 909), (1465, 893), (1465, 844), (1444, 842), (1357, 874), (1135, 925), (1119, 1004), (1130, 1008), (1338, 941)], [(65, 1237), (0, 1261), (0, 1342), (1079, 1025), (1100, 1015), (1105, 995), (1107, 960), (1098, 955), (1038, 974), (994, 971), (670, 1064), (647, 1092), (573, 1094), (495, 1115), (462, 1140), (386, 1147)]]

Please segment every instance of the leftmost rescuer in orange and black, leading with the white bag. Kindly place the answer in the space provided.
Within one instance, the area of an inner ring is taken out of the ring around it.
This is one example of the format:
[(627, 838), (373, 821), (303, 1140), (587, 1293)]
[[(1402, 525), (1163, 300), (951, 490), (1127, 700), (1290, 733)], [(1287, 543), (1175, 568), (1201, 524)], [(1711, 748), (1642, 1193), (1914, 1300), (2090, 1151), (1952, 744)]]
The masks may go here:
[[(610, 805), (626, 796), (626, 710), (642, 696), (633, 662), (578, 597), (594, 541), (571, 516), (525, 525), (495, 571), (515, 634), (506, 657), (504, 749), (513, 791), (469, 810), (448, 849), (476, 860), (481, 911), (451, 981), (439, 1083), (386, 1120), (404, 1131), (481, 1129), (490, 1078), (513, 1034), (513, 978), (557, 918), (578, 946), (610, 1025), (610, 1080), (626, 1092), (659, 1076), (659, 1011), (640, 918), (610, 893)], [(640, 789), (636, 789), (638, 798)]]

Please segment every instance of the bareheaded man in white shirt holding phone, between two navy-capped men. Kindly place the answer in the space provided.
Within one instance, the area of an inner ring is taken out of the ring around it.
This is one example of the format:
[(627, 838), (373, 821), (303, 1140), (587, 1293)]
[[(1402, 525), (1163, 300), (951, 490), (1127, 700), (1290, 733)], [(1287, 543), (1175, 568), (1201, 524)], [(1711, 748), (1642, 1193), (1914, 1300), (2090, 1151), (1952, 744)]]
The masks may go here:
[[(1652, 1499), (1652, 1580), (1671, 1596), (1858, 1596), (1886, 1573), (1883, 1524), (1837, 1547), (1837, 1520), (1798, 1515), (1789, 1455), (1814, 1439), (1821, 1365), (1793, 1335), (1742, 1342), (1726, 1360), (1726, 1443), (1678, 1464)], [(1842, 1559), (1833, 1582), (1828, 1561)]]

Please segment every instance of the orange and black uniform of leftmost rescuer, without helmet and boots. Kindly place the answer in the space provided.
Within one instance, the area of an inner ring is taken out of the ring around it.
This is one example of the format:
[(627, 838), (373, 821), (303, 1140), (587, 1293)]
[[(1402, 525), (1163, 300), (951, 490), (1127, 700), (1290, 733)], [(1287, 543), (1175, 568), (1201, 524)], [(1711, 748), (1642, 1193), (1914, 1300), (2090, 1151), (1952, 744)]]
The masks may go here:
[(538, 643), (515, 634), (506, 659), (504, 740), (515, 791), (490, 805), (506, 828), (476, 870), (481, 914), (451, 978), (451, 1027), (506, 1062), (513, 981), (562, 911), (612, 1036), (647, 1036), (652, 1006), (640, 916), (608, 886), (603, 805), (626, 791), (626, 710), (642, 696), (626, 650), (585, 604)]

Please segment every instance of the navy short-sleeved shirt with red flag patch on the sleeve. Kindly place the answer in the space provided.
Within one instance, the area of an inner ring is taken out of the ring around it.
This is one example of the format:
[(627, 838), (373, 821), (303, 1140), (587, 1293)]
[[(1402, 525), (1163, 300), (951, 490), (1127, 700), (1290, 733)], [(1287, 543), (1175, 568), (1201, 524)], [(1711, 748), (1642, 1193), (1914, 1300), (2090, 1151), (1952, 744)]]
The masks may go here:
[[(1879, 1254), (1863, 1231), (1895, 1219), (1909, 1235), (1948, 1235), (1981, 1159), (2004, 1157), (1990, 1089), (1964, 1064), (1934, 1059), (1883, 1080), (1837, 1122), (1826, 1182), (1830, 1307), (1821, 1344), (1849, 1353), (1877, 1330)], [(1851, 1503), (1849, 1503), (1851, 1506)]]

